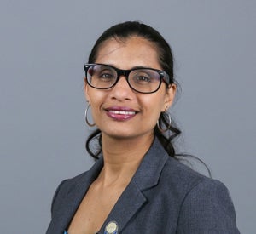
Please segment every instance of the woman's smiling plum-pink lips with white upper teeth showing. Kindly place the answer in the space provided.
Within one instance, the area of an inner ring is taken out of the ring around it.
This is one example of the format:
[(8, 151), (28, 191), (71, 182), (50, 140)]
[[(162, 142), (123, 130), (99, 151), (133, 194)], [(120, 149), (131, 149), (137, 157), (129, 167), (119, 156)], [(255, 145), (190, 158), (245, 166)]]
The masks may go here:
[(111, 117), (118, 121), (125, 121), (135, 117), (137, 111), (128, 108), (128, 107), (120, 107), (120, 106), (113, 106), (106, 109), (108, 117)]

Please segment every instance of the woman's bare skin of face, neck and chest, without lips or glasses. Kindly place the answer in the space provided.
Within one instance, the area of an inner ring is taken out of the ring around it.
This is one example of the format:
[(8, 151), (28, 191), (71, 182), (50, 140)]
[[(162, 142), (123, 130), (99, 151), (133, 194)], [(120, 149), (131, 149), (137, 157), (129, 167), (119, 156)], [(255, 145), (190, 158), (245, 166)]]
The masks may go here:
[[(162, 70), (154, 43), (143, 37), (129, 37), (125, 41), (109, 39), (102, 43), (95, 62), (119, 69), (144, 66)], [(161, 83), (157, 92), (139, 94), (129, 87), (125, 77), (120, 77), (108, 90), (91, 88), (85, 82), (86, 100), (91, 105), (96, 126), (102, 131), (104, 167), (73, 217), (68, 229), (70, 234), (90, 234), (101, 229), (152, 144), (160, 112), (172, 105), (175, 91), (175, 84), (166, 88), (166, 84)], [(109, 117), (108, 110), (113, 106), (129, 108), (136, 114), (125, 120)]]

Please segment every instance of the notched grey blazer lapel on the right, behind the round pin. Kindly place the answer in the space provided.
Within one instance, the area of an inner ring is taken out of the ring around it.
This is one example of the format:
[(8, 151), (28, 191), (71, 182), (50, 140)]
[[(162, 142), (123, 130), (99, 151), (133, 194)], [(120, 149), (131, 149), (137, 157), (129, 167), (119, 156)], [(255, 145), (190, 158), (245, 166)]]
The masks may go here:
[(160, 173), (168, 157), (166, 151), (160, 146), (160, 142), (155, 139), (130, 184), (119, 197), (118, 202), (102, 225), (101, 230), (98, 232), (99, 234), (104, 233), (106, 225), (111, 221), (118, 224), (119, 232), (125, 228), (125, 225), (137, 214), (143, 204), (147, 203), (148, 200), (143, 195), (143, 191), (158, 184)]

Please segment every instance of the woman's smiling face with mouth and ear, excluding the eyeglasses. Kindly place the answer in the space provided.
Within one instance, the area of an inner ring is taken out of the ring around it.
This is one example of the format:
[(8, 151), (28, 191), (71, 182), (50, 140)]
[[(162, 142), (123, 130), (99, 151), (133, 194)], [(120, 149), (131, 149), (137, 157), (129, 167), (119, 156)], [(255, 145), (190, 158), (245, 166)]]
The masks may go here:
[[(137, 66), (162, 70), (158, 62), (154, 43), (143, 37), (130, 37), (120, 42), (109, 39), (102, 43), (96, 63), (132, 69)], [(152, 94), (140, 94), (129, 87), (125, 77), (110, 89), (91, 88), (85, 83), (86, 99), (96, 126), (103, 136), (113, 138), (137, 138), (153, 135), (153, 129), (161, 111), (172, 105), (176, 87), (161, 83), (160, 89)]]

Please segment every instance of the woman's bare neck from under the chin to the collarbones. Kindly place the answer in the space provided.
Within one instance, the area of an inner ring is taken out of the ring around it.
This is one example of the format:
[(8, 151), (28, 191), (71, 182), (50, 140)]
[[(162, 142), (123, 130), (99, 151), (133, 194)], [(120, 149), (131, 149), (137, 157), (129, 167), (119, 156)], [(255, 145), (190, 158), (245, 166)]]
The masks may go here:
[(104, 167), (99, 179), (105, 185), (128, 184), (153, 140), (153, 134), (140, 139), (113, 139), (102, 134)]

